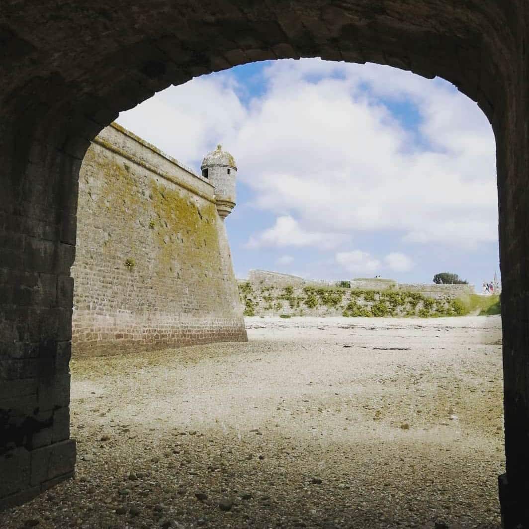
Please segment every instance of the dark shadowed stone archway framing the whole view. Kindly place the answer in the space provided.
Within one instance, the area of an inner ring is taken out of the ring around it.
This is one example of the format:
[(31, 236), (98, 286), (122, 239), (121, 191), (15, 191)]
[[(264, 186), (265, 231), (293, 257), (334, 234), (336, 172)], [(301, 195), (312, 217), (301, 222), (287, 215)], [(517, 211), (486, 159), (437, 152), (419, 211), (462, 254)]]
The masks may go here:
[(77, 176), (90, 140), (170, 84), (314, 57), (439, 75), (496, 135), (506, 527), (529, 527), (528, 7), (522, 0), (157, 0), (0, 13), (0, 505), (72, 475), (69, 372)]

